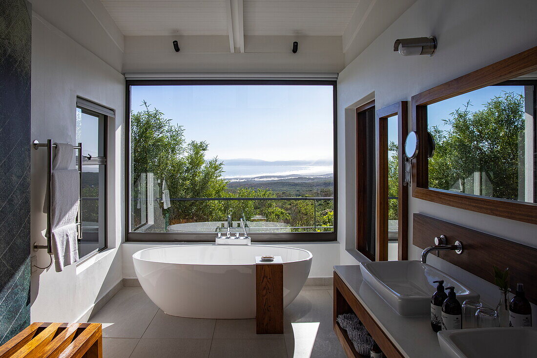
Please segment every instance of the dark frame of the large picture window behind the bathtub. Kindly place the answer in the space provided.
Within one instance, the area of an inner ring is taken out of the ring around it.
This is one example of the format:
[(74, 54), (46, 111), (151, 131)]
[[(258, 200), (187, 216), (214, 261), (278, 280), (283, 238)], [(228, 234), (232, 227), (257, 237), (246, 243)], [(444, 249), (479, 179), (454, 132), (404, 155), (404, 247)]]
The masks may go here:
[(126, 242), (214, 242), (215, 233), (133, 232), (130, 229), (130, 89), (155, 85), (331, 85), (333, 106), (333, 210), (331, 232), (249, 233), (252, 242), (337, 241), (337, 81), (324, 79), (127, 79), (125, 81), (125, 229)]

